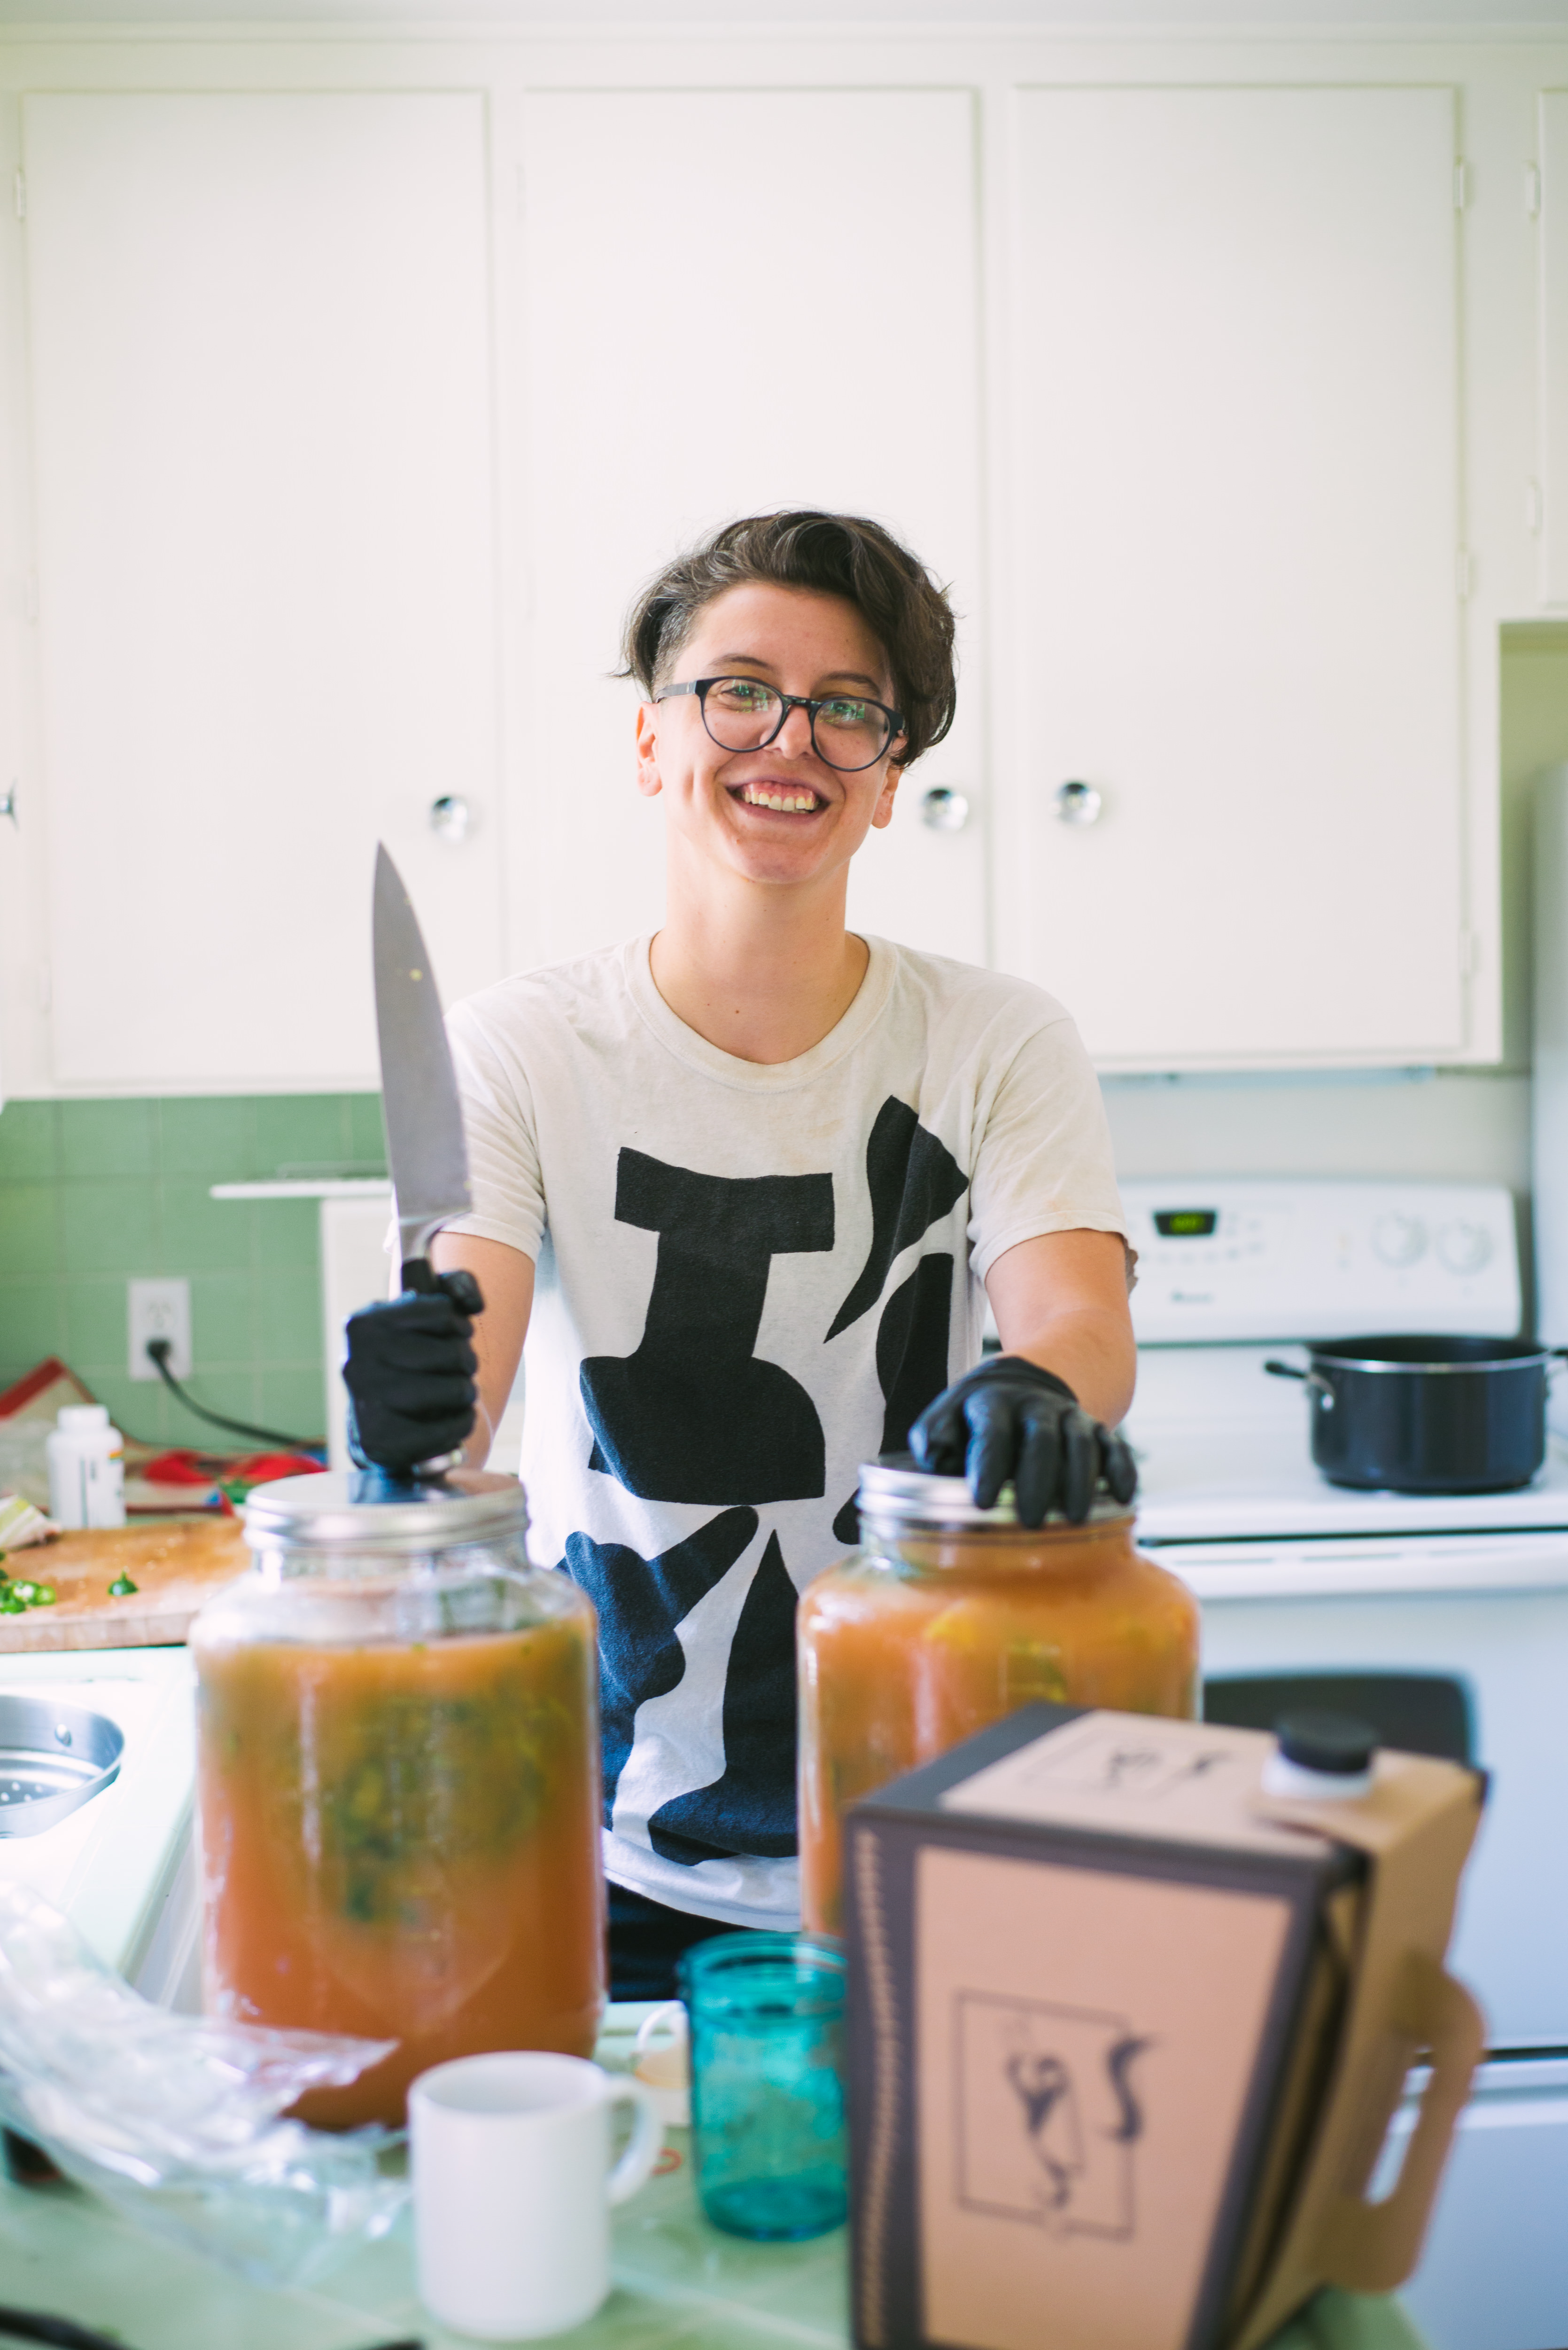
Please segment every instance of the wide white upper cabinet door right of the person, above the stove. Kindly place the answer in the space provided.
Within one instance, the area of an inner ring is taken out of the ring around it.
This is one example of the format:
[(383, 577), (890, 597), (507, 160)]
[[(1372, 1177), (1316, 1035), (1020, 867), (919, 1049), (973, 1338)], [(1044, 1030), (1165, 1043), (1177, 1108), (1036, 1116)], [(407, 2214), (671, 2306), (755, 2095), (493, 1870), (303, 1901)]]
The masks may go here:
[(1453, 122), (1016, 101), (1000, 959), (1103, 1065), (1465, 1043)]

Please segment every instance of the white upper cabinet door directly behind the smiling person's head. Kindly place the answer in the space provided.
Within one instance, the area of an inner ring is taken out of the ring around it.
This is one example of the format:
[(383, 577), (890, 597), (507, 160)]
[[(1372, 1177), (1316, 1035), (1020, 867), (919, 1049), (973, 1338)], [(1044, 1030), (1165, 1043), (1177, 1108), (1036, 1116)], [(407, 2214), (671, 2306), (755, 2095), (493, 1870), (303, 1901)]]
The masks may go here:
[[(974, 183), (960, 92), (521, 108), (521, 961), (660, 924), (620, 625), (681, 548), (784, 505), (873, 515), (953, 583), (960, 719), (859, 851), (850, 919), (986, 959)], [(965, 830), (922, 820), (941, 787)]]

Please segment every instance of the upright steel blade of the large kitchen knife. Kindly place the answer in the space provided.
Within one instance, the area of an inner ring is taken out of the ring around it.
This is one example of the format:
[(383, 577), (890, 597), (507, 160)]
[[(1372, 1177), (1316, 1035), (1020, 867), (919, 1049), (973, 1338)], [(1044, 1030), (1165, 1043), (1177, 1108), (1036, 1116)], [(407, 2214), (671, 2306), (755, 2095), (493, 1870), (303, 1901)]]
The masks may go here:
[(376, 844), (371, 912), (380, 1114), (397, 1194), (404, 1288), (432, 1290), (430, 1243), (472, 1208), (462, 1104), (425, 935), (401, 874)]

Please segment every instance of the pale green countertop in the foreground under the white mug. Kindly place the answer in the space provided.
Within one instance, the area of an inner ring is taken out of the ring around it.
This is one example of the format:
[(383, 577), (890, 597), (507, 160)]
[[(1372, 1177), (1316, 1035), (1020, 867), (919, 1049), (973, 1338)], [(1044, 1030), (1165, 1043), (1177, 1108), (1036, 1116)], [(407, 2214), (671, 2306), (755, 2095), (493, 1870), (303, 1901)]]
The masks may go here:
[[(613, 2068), (648, 2009), (610, 2012)], [(688, 2131), (676, 2169), (615, 2216), (615, 2291), (573, 2350), (845, 2350), (845, 2232), (810, 2244), (746, 2244), (697, 2214)], [(404, 2228), (310, 2291), (268, 2291), (209, 2261), (136, 2235), (75, 2188), (0, 2181), (0, 2303), (113, 2331), (127, 2350), (376, 2350), (420, 2338), (465, 2350), (413, 2291)], [(1272, 2350), (1422, 2350), (1394, 2301), (1322, 2294)]]

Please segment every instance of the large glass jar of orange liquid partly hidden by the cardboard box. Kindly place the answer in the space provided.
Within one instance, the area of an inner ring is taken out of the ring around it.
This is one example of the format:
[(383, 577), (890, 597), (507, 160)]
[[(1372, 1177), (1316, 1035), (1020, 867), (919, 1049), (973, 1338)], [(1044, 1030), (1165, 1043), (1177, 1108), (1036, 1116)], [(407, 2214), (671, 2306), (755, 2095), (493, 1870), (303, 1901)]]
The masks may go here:
[(840, 1929), (840, 1817), (1019, 1706), (1197, 1711), (1197, 1603), (1131, 1544), (1131, 1511), (1019, 1525), (1012, 1488), (876, 1462), (861, 1546), (807, 1586), (800, 1666), (800, 1906)]

